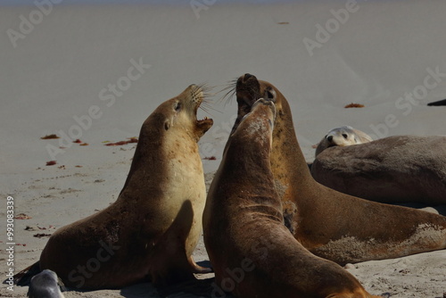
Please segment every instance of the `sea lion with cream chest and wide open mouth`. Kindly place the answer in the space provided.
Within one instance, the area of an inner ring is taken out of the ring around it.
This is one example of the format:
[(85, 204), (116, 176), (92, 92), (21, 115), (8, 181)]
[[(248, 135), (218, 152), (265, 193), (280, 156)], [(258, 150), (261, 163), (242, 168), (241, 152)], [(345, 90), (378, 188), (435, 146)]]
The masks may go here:
[(202, 101), (202, 87), (191, 85), (152, 112), (117, 201), (55, 231), (40, 269), (87, 290), (166, 286), (210, 271), (191, 257), (206, 200), (197, 142), (213, 123), (196, 119)]

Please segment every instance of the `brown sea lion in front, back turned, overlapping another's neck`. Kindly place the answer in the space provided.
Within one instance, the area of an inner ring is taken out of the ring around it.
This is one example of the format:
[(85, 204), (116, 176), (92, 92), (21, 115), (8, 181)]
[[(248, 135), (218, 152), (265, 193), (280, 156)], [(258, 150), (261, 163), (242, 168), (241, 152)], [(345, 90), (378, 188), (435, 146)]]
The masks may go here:
[(332, 261), (306, 250), (284, 225), (269, 162), (274, 103), (263, 99), (229, 137), (203, 213), (215, 271), (212, 296), (377, 297)]

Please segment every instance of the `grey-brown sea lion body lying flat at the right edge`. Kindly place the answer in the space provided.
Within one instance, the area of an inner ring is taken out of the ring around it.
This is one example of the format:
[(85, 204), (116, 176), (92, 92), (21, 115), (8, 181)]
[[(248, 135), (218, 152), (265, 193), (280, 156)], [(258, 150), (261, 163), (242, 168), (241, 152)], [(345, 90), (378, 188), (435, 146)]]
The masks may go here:
[(385, 137), (333, 147), (311, 167), (319, 183), (381, 203), (446, 203), (446, 137)]

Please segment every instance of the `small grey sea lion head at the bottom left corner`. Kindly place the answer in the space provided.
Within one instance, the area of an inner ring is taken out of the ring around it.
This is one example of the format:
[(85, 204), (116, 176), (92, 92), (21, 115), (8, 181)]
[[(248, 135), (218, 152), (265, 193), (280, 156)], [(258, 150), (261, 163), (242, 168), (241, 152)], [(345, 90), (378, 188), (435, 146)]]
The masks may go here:
[(28, 290), (29, 298), (64, 298), (59, 287), (57, 275), (52, 270), (45, 269), (31, 278)]

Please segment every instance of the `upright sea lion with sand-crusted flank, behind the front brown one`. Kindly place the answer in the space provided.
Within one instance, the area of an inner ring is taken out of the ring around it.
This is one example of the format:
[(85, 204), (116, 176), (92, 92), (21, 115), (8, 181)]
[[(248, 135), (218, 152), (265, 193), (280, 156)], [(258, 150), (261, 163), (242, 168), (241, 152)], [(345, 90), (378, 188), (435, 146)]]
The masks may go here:
[(290, 106), (276, 87), (246, 74), (235, 91), (235, 128), (258, 98), (276, 101), (271, 170), (285, 224), (310, 252), (345, 264), (446, 248), (446, 217), (366, 201), (316, 182), (297, 142)]

